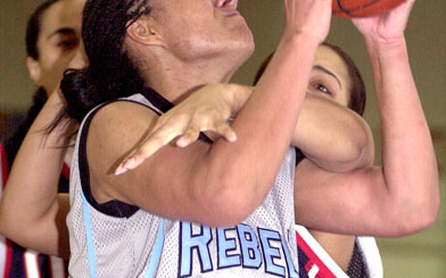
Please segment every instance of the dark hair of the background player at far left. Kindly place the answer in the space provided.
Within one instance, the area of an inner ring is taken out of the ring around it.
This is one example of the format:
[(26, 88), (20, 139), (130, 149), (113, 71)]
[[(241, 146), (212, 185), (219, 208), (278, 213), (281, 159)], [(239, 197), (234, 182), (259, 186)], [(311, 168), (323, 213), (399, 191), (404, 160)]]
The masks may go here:
[[(31, 14), (28, 24), (26, 26), (26, 55), (33, 58), (34, 60), (39, 59), (39, 49), (37, 47), (37, 42), (40, 36), (41, 23), (44, 13), (56, 2), (60, 0), (47, 0), (40, 4), (34, 12)], [(12, 165), (17, 152), (19, 151), (20, 145), (22, 145), (25, 139), (26, 133), (31, 127), (32, 123), (36, 119), (40, 110), (47, 102), (47, 92), (43, 87), (37, 89), (33, 95), (32, 105), (28, 110), (25, 121), (19, 126), (19, 128), (5, 140), (5, 150), (8, 157), (8, 164)]]

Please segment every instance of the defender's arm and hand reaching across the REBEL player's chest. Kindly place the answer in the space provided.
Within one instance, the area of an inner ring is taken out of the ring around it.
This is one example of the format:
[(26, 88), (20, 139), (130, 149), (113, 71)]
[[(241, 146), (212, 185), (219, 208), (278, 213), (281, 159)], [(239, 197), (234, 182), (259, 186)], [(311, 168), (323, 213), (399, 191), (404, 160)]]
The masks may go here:
[[(145, 142), (149, 150), (145, 156), (177, 137), (177, 146), (187, 146), (198, 139), (200, 131), (214, 140), (224, 136), (234, 142), (236, 134), (225, 121), (231, 115), (236, 117), (254, 89), (214, 84), (192, 94), (157, 120), (150, 139)], [(365, 167), (374, 154), (372, 133), (362, 117), (333, 100), (309, 92), (302, 102), (291, 145), (299, 147), (318, 166), (335, 172)]]

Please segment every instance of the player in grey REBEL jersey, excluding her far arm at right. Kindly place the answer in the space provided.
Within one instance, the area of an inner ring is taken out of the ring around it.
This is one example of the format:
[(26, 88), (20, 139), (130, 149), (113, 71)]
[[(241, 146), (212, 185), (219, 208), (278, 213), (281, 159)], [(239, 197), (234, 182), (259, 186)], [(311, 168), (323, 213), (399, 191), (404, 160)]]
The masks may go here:
[[(144, 135), (147, 120), (165, 112), (166, 99), (174, 102), (201, 84), (227, 81), (253, 47), (236, 1), (130, 3), (87, 1), (83, 40), (90, 66), (66, 75), (61, 86), (78, 120), (101, 102), (130, 95), (91, 111), (79, 130), (67, 218), (71, 275), (297, 277), (296, 252), (290, 248), (295, 159), (288, 144), (312, 65), (308, 53), (328, 32), (331, 2), (286, 1), (289, 23), (273, 71), (234, 120), (237, 142), (165, 148), (149, 159), (151, 167), (114, 176), (107, 172)], [(302, 79), (273, 78), (296, 73)], [(84, 97), (89, 100), (78, 102)], [(281, 110), (270, 102), (276, 98), (284, 102)], [(251, 125), (250, 115), (262, 118), (279, 139)], [(228, 228), (208, 228), (213, 226)], [(240, 254), (229, 255), (237, 234)]]

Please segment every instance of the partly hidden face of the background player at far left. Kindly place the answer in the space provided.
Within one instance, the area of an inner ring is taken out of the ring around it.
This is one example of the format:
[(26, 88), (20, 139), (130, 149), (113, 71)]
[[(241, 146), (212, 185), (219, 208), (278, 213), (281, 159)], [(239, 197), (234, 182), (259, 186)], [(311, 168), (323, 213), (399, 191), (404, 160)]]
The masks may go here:
[[(33, 81), (52, 93), (63, 72), (72, 65), (85, 65), (85, 55), (76, 55), (81, 45), (82, 11), (85, 0), (61, 0), (41, 17), (37, 41), (39, 58), (28, 57), (28, 70)], [(83, 61), (72, 61), (84, 59)]]

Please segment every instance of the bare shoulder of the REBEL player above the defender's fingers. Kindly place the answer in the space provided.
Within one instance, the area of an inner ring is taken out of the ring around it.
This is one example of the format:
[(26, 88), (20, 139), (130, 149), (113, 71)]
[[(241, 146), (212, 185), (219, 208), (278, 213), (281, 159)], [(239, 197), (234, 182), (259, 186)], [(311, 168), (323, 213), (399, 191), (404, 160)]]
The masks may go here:
[(124, 100), (98, 107), (84, 119), (79, 134), (79, 166), (93, 181), (93, 194), (98, 201), (102, 198), (95, 193), (95, 188), (108, 186), (113, 180), (110, 173), (157, 118), (158, 115), (144, 104)]

